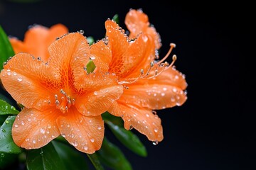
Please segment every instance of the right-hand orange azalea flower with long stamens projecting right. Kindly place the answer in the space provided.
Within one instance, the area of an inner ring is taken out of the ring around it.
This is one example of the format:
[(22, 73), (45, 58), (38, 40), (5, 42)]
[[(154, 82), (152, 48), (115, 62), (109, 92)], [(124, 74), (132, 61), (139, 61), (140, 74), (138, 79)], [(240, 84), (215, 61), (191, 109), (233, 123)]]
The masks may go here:
[[(134, 33), (140, 33), (130, 40), (114, 21), (106, 21), (105, 27), (107, 37), (91, 46), (92, 55), (96, 66), (116, 74), (119, 84), (124, 85), (124, 93), (108, 111), (121, 116), (127, 130), (135, 128), (149, 140), (159, 142), (164, 138), (161, 120), (152, 110), (181, 106), (187, 98), (183, 91), (187, 86), (185, 77), (172, 67), (174, 63), (166, 67), (162, 60), (154, 62), (159, 42), (155, 34), (134, 28)], [(166, 57), (173, 47), (171, 44)]]

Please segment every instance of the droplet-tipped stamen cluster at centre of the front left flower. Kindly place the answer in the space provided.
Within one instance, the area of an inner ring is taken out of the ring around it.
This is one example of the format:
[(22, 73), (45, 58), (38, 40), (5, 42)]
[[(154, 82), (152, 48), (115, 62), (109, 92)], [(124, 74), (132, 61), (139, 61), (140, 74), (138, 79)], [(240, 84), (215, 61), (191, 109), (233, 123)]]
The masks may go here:
[(60, 95), (54, 95), (56, 108), (60, 109), (62, 113), (68, 113), (68, 108), (75, 105), (75, 98), (71, 98), (70, 95), (66, 94), (63, 89), (60, 89)]

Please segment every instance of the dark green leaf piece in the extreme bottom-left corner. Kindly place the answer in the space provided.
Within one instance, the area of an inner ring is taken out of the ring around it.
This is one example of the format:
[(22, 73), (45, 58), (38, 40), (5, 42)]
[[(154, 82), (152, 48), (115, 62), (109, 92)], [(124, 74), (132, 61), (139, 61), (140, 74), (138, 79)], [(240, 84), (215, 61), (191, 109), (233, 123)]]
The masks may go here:
[(0, 169), (18, 169), (18, 154), (0, 152)]

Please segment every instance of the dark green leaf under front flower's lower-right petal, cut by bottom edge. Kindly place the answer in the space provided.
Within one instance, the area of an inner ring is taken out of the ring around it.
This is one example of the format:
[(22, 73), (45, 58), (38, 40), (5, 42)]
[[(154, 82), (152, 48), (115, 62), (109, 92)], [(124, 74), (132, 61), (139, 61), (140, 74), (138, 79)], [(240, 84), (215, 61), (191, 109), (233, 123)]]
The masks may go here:
[(77, 149), (70, 147), (70, 145), (65, 145), (62, 142), (52, 141), (52, 143), (66, 169), (88, 169), (85, 157)]

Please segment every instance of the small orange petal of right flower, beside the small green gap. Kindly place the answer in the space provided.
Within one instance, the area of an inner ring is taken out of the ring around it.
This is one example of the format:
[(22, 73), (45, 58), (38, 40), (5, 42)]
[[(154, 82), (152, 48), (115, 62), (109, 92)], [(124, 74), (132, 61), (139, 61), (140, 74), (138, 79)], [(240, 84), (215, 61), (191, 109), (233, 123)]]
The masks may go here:
[(109, 65), (112, 60), (112, 52), (110, 47), (105, 44), (103, 40), (96, 42), (90, 46), (91, 57), (95, 58), (93, 62), (95, 63), (97, 69), (101, 72), (108, 72)]

